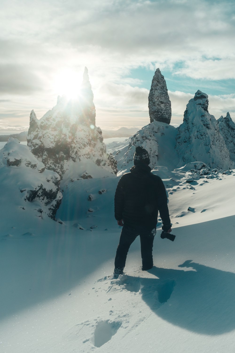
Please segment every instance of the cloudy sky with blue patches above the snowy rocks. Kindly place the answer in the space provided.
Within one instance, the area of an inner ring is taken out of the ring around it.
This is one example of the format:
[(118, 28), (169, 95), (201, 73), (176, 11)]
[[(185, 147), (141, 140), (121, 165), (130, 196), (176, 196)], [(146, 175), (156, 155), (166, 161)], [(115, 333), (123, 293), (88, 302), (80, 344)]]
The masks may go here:
[(171, 124), (188, 100), (209, 95), (216, 119), (235, 121), (235, 2), (209, 0), (2, 0), (0, 134), (27, 131), (57, 96), (79, 92), (84, 67), (96, 125), (147, 125), (156, 68), (166, 79)]

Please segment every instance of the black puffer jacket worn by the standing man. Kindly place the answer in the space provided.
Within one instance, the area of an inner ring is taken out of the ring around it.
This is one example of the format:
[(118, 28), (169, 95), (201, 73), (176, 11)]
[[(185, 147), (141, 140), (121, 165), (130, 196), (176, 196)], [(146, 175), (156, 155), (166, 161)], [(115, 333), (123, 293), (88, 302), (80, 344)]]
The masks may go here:
[(124, 174), (115, 193), (115, 218), (123, 219), (133, 228), (156, 227), (158, 210), (163, 225), (171, 224), (166, 189), (160, 177), (151, 173), (147, 164), (140, 163)]

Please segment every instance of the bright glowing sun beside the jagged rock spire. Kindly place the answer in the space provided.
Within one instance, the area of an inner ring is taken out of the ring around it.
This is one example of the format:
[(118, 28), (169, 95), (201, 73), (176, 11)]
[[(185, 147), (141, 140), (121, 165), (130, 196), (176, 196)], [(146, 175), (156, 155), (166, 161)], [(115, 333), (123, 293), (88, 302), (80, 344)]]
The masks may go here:
[(57, 95), (75, 99), (80, 96), (81, 83), (82, 74), (66, 68), (56, 73), (53, 90)]

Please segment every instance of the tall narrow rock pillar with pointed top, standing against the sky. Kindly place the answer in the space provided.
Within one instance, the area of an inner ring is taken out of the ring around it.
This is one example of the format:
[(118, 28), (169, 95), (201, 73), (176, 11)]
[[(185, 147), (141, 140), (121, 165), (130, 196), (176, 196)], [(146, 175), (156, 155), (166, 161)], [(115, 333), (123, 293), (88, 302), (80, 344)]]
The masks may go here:
[(171, 101), (168, 96), (166, 81), (159, 68), (155, 71), (151, 89), (149, 91), (149, 116), (150, 122), (160, 121), (170, 124)]

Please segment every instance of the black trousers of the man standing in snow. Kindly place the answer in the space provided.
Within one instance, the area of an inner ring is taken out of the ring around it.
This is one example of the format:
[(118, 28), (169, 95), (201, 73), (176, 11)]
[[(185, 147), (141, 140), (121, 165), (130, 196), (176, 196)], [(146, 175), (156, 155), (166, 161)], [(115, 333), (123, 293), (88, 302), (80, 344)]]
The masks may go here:
[(128, 226), (123, 226), (120, 235), (119, 244), (115, 257), (115, 268), (123, 269), (126, 263), (126, 256), (130, 245), (140, 235), (142, 270), (149, 270), (153, 267), (153, 240), (156, 234), (156, 229), (135, 229)]

